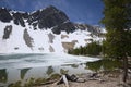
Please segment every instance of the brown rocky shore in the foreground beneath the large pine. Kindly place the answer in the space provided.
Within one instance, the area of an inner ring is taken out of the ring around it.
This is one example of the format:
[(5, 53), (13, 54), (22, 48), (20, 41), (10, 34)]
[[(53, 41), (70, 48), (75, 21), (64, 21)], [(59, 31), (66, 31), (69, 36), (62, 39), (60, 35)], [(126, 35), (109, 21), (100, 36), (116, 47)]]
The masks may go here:
[[(108, 72), (107, 72), (108, 73)], [(122, 83), (122, 73), (111, 72), (111, 73), (98, 73), (98, 74), (81, 74), (76, 75), (79, 82), (69, 80), (69, 87), (131, 87), (131, 74), (128, 78), (128, 84)], [(124, 86), (123, 86), (124, 85)], [(62, 84), (49, 84), (35, 87), (67, 87), (64, 83)]]

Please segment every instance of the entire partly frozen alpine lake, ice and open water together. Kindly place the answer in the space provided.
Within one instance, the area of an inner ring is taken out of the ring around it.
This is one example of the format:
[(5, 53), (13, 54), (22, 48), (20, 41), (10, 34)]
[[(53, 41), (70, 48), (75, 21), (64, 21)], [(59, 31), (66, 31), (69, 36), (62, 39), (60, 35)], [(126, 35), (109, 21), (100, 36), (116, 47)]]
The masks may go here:
[(69, 54), (0, 54), (0, 87), (32, 87), (63, 74), (114, 70), (118, 61)]

